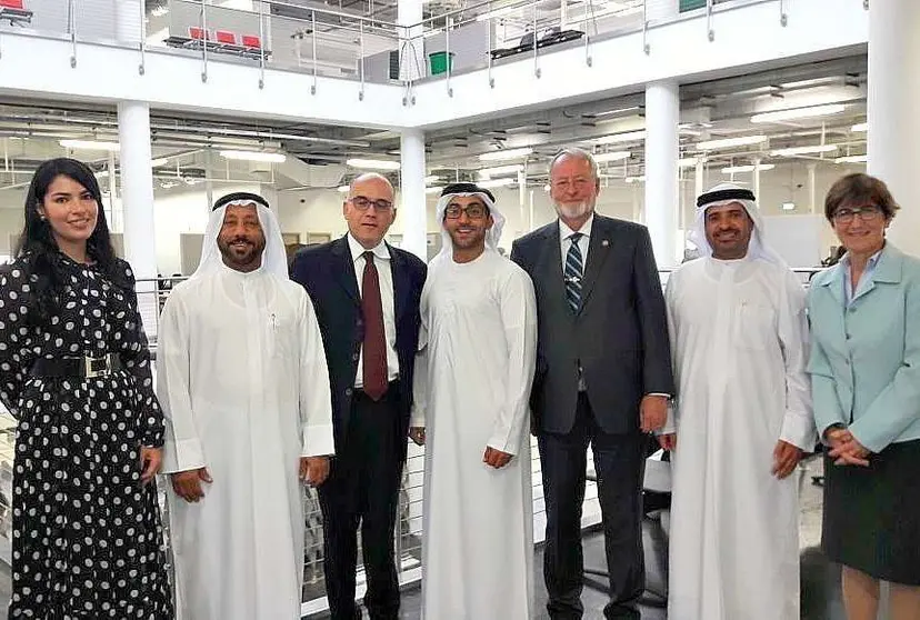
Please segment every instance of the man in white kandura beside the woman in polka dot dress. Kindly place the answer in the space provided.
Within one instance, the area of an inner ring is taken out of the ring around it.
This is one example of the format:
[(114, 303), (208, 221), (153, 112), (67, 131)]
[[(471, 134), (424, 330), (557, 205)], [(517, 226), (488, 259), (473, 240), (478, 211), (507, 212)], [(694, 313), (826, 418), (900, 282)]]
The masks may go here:
[(158, 393), (178, 620), (296, 620), (303, 488), (333, 452), (313, 307), (259, 196), (214, 206), (201, 264), (163, 308)]

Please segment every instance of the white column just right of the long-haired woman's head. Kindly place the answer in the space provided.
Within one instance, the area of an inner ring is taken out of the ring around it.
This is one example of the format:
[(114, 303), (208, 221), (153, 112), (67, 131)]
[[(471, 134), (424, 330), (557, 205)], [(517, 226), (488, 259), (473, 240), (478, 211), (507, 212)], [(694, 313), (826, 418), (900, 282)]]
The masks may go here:
[(157, 334), (159, 302), (156, 294), (157, 246), (153, 234), (153, 170), (150, 168), (150, 106), (138, 101), (118, 104), (121, 144), (121, 209), (124, 258), (138, 279), (138, 308), (150, 339)]

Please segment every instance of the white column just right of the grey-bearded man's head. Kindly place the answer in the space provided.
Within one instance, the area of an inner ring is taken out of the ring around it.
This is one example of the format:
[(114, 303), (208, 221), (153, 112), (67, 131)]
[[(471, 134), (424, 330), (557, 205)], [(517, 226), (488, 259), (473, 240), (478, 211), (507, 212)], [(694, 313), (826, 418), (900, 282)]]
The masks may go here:
[(646, 87), (646, 222), (659, 268), (679, 264), (678, 228), (678, 122), (680, 97), (677, 82)]

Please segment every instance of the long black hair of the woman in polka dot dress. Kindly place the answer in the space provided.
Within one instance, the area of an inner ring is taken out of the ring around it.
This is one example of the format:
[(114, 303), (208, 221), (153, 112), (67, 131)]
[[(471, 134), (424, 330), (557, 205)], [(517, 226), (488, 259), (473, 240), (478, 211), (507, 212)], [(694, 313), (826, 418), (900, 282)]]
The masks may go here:
[(44, 201), (48, 188), (58, 177), (67, 177), (80, 183), (96, 200), (98, 214), (96, 229), (87, 239), (87, 256), (100, 271), (106, 273), (117, 286), (130, 288), (123, 270), (117, 269), (114, 249), (102, 210), (102, 192), (90, 168), (76, 159), (58, 158), (44, 161), (36, 170), (29, 192), (26, 194), (26, 226), (19, 236), (16, 257), (26, 261), (29, 272), (38, 276), (30, 304), (30, 319), (40, 320), (54, 311), (63, 288), (61, 261), (58, 243), (51, 233), (51, 224), (42, 219), (38, 208)]

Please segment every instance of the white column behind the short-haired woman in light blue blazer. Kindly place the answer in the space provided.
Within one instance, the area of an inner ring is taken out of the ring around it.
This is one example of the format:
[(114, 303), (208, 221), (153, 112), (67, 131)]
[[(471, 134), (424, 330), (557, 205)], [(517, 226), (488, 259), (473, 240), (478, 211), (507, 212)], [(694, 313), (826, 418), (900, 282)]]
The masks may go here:
[(889, 238), (920, 254), (920, 2), (869, 3), (869, 163), (901, 206)]

